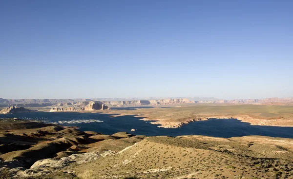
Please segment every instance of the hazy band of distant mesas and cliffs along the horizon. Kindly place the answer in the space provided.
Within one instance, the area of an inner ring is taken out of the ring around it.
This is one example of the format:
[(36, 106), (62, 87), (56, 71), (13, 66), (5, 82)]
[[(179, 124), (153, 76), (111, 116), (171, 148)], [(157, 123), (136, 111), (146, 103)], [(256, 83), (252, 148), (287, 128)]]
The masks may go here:
[(214, 97), (174, 97), (174, 98), (91, 98), (91, 99), (3, 99), (0, 107), (85, 107), (90, 102), (100, 101), (109, 107), (142, 105), (176, 105), (183, 103), (197, 104), (266, 104), (291, 103), (293, 98), (236, 99), (222, 100)]

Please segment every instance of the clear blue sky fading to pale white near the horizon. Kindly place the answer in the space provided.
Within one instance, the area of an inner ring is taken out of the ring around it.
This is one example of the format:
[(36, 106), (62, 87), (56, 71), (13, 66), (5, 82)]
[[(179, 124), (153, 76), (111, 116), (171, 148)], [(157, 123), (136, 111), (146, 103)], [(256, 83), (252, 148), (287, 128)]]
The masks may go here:
[(293, 0), (0, 0), (0, 97), (293, 97)]

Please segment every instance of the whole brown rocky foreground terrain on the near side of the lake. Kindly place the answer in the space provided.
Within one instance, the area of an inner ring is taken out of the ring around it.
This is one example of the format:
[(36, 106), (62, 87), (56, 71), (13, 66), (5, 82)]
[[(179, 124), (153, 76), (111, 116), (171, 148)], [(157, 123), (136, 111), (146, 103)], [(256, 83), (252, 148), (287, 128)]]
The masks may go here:
[[(10, 126), (0, 122), (2, 125)], [(104, 137), (94, 137), (99, 135)], [(4, 179), (293, 176), (293, 139), (285, 138), (102, 135), (40, 123), (39, 127), (0, 131), (0, 143), (0, 176), (7, 176)]]

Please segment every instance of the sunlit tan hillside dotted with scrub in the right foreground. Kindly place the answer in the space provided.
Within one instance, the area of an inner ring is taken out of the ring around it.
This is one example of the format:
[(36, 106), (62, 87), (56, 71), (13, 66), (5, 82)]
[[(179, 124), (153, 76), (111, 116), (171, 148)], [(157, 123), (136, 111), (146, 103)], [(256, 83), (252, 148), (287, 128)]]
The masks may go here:
[[(142, 179), (177, 178), (268, 178), (293, 174), (292, 147), (279, 155), (268, 151), (263, 139), (253, 138), (257, 148), (249, 142), (233, 138), (209, 138), (202, 136), (148, 137), (114, 156), (98, 159), (78, 166), (77, 172), (85, 168), (94, 170), (101, 179), (115, 176), (136, 175)], [(247, 139), (248, 140), (248, 139)], [(258, 142), (256, 141), (258, 140)], [(286, 141), (283, 141), (286, 143)], [(289, 140), (288, 143), (292, 141)], [(279, 142), (271, 142), (276, 145)], [(285, 146), (285, 145), (284, 145)], [(261, 158), (257, 156), (261, 155)], [(273, 159), (272, 159), (273, 157)]]

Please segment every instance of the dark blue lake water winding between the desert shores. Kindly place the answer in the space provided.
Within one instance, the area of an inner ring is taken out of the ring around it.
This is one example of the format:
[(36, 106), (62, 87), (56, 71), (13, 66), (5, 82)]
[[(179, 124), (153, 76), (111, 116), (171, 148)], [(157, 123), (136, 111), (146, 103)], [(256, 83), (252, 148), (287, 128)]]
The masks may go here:
[[(125, 109), (125, 108), (124, 108)], [(129, 110), (131, 110), (130, 108)], [(116, 110), (119, 110), (117, 108)], [(117, 111), (117, 113), (119, 113)], [(134, 116), (110, 117), (102, 113), (78, 113), (78, 112), (34, 112), (21, 114), (0, 114), (0, 118), (18, 117), (47, 122), (72, 121), (72, 120), (100, 120), (104, 122), (63, 124), (78, 126), (80, 130), (96, 131), (103, 134), (113, 134), (126, 131), (135, 135), (157, 136), (157, 135), (206, 135), (213, 137), (240, 137), (247, 135), (262, 135), (271, 137), (293, 138), (293, 127), (277, 127), (250, 125), (237, 119), (210, 119), (208, 121), (193, 122), (180, 128), (159, 128), (152, 125), (150, 121), (139, 120)], [(136, 129), (134, 132), (130, 130)]]

